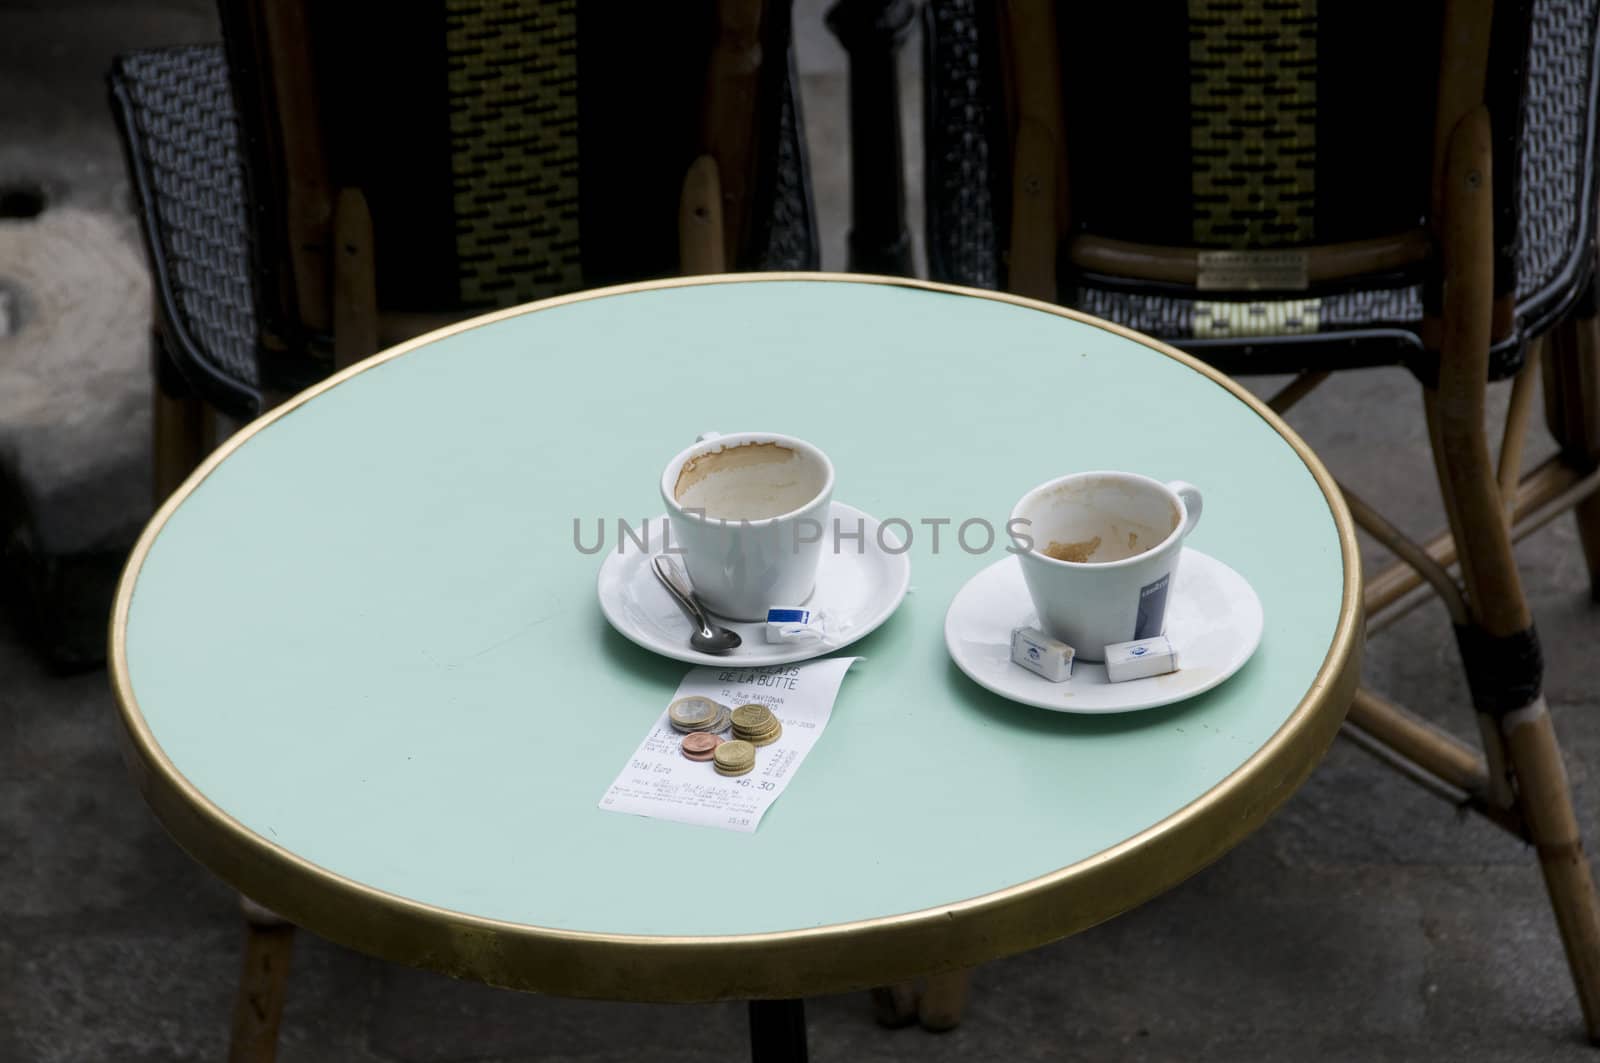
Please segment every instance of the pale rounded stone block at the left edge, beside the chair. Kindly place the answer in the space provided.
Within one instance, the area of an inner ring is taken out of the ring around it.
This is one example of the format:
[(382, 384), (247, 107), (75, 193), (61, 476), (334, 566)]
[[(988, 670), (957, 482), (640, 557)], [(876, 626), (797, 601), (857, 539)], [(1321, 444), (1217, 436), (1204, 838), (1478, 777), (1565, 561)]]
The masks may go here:
[(150, 509), (150, 283), (110, 216), (0, 218), (0, 586), (58, 666), (104, 658)]

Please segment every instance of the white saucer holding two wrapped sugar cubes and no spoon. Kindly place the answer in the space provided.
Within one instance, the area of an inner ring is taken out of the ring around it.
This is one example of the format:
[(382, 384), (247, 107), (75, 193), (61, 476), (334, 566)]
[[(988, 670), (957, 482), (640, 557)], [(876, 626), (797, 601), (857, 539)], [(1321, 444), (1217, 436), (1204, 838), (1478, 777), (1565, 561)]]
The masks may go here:
[(1106, 680), (1104, 664), (1075, 661), (1072, 679), (1053, 684), (1011, 663), (1011, 629), (1038, 613), (1018, 559), (989, 565), (966, 581), (944, 615), (944, 645), (979, 687), (1056, 712), (1130, 712), (1192, 698), (1237, 672), (1261, 645), (1261, 599), (1242, 575), (1200, 551), (1184, 549), (1166, 605), (1166, 634), (1178, 650), (1176, 672)]

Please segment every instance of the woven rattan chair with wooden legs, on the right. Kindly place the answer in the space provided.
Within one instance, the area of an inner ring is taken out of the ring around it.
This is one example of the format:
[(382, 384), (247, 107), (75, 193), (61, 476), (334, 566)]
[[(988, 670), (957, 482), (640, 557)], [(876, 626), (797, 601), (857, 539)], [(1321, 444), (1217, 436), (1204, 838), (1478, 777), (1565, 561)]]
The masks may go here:
[[(1483, 748), (1368, 690), (1352, 736), (1534, 847), (1600, 1041), (1600, 906), (1512, 559), (1576, 506), (1600, 599), (1597, 8), (930, 0), (925, 123), (934, 279), (1298, 373), (1280, 411), (1333, 370), (1413, 370), (1450, 530), (1413, 543), (1347, 491), (1400, 559), (1366, 586), (1368, 629), (1422, 584), (1443, 599)], [(1541, 367), (1562, 453), (1523, 477)], [(1485, 391), (1507, 378), (1496, 467)], [(960, 983), (930, 985), (941, 1025)]]

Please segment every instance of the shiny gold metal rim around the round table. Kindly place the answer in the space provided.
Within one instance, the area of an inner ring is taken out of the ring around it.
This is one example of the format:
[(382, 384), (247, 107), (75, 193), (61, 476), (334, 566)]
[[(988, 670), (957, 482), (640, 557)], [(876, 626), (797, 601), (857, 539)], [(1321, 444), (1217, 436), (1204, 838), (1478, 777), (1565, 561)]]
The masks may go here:
[[(990, 299), (1115, 333), (1176, 359), (1254, 410), (1307, 466), (1333, 514), (1344, 597), (1333, 642), (1301, 703), (1216, 786), (1158, 823), (1077, 863), (963, 901), (822, 927), (664, 937), (560, 930), (472, 916), (387, 893), (328, 871), (250, 831), (166, 757), (128, 676), (128, 610), (141, 567), (171, 514), (230, 453), (317, 395), (445, 336), (570, 303), (720, 283), (870, 283)], [(291, 922), (358, 951), (490, 985), (614, 1001), (773, 999), (888, 985), (955, 970), (1078, 933), (1171, 889), (1251, 834), (1333, 741), (1362, 656), (1362, 570), (1355, 525), (1328, 469), (1283, 419), (1198, 359), (1131, 328), (1008, 293), (909, 277), (762, 272), (672, 277), (562, 295), (472, 317), (381, 351), (261, 415), (218, 447), (146, 525), (117, 588), (109, 632), (123, 759), (157, 818), (224, 880)]]

